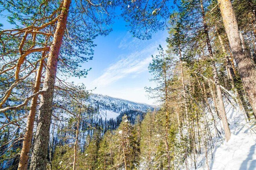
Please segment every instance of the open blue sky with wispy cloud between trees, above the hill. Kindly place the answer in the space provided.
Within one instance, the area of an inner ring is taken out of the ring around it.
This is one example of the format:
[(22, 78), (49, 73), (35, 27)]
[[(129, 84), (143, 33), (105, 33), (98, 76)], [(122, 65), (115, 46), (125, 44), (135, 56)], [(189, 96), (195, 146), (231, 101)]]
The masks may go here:
[(84, 83), (87, 89), (96, 89), (93, 93), (111, 97), (154, 104), (146, 96), (144, 87), (154, 86), (148, 65), (151, 55), (157, 54), (159, 44), (166, 47), (167, 31), (159, 31), (150, 40), (134, 38), (125, 27), (125, 22), (118, 19), (113, 31), (106, 37), (95, 40), (94, 58), (83, 67), (92, 68), (87, 78), (72, 78), (75, 83)]

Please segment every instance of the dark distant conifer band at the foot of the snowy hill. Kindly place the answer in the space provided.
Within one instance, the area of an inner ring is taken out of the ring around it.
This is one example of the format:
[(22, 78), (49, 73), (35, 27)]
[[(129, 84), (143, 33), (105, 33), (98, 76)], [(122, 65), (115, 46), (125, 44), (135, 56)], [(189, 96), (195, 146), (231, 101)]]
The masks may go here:
[[(93, 110), (94, 111), (94, 110)], [(79, 125), (79, 134), (78, 134), (78, 141), (79, 141), (79, 150), (84, 152), (84, 145), (86, 145), (87, 138), (89, 136), (93, 136), (95, 129), (97, 130), (97, 133), (100, 136), (103, 136), (107, 131), (114, 131), (122, 122), (122, 117), (126, 115), (128, 116), (129, 122), (134, 125), (136, 122), (136, 117), (139, 116), (140, 119), (143, 119), (143, 116), (145, 115), (144, 112), (138, 111), (138, 110), (128, 110), (123, 111), (118, 115), (115, 119), (111, 118), (107, 120), (102, 119), (101, 115), (99, 115), (97, 112), (83, 112), (81, 113), (81, 122)], [(66, 146), (72, 144), (73, 138), (75, 138), (75, 135), (73, 131), (76, 130), (76, 125), (74, 124), (75, 118), (74, 116), (66, 119), (66, 121), (55, 121), (52, 123), (51, 126), (51, 138), (50, 141), (53, 142), (53, 144), (50, 146), (51, 156), (53, 156), (56, 146)]]

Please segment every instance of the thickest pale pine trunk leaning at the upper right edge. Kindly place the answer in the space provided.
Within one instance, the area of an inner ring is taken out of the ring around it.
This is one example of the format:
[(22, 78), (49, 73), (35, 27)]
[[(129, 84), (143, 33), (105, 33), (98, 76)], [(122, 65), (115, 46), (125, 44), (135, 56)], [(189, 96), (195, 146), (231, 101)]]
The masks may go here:
[(229, 39), (235, 62), (248, 94), (251, 107), (256, 113), (256, 68), (251, 61), (248, 50), (243, 51), (239, 37), (238, 24), (230, 0), (218, 0), (224, 27)]

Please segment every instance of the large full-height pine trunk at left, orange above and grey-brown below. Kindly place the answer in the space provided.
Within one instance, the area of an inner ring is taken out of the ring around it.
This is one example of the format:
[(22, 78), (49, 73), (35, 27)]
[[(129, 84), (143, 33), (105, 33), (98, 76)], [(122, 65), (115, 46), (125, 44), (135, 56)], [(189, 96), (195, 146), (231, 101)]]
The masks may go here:
[(53, 43), (50, 47), (46, 74), (43, 84), (45, 93), (42, 94), (40, 111), (38, 116), (37, 132), (35, 137), (34, 151), (30, 170), (44, 170), (47, 163), (48, 141), (51, 123), (51, 111), (53, 102), (53, 91), (56, 79), (57, 62), (62, 38), (66, 29), (70, 0), (63, 1), (63, 8), (59, 15), (56, 31), (53, 37)]

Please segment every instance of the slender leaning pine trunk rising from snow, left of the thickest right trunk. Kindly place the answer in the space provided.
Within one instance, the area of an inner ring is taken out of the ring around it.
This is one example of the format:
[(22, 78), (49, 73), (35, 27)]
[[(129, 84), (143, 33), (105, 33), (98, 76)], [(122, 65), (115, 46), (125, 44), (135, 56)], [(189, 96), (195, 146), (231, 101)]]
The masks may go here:
[(206, 43), (207, 43), (210, 58), (212, 60), (211, 64), (212, 64), (212, 69), (213, 69), (213, 79), (214, 79), (214, 82), (216, 85), (216, 91), (217, 91), (217, 97), (218, 97), (218, 107), (219, 107), (219, 111), (220, 111), (219, 114), (221, 116), (222, 124), (224, 127), (226, 141), (229, 141), (231, 133), (230, 133), (229, 124), (228, 124), (228, 120), (227, 120), (227, 116), (226, 116), (226, 111), (225, 111), (225, 107), (224, 107), (224, 103), (223, 103), (223, 99), (222, 99), (222, 92), (221, 92), (221, 88), (220, 88), (220, 84), (219, 84), (217, 69), (216, 69), (215, 62), (214, 62), (213, 51), (212, 51), (209, 33), (208, 33), (208, 26), (206, 23), (205, 13), (204, 13), (204, 9), (203, 9), (203, 1), (200, 0), (200, 2), (201, 2), (201, 9), (202, 9), (202, 15), (203, 15), (203, 25), (204, 25), (204, 33), (206, 36)]

